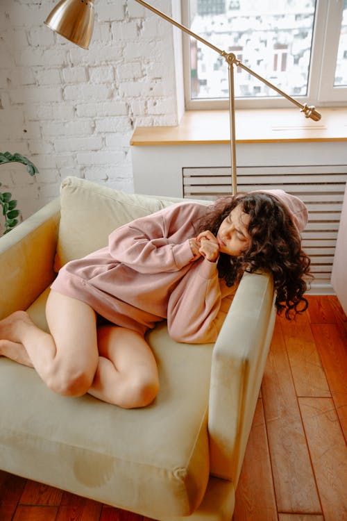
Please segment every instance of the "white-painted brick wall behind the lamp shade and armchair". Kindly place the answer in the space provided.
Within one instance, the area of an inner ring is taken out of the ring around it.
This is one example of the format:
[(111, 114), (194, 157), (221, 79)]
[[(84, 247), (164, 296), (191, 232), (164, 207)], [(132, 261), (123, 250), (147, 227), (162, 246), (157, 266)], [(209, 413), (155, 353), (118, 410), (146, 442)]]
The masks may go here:
[[(44, 26), (56, 3), (0, 0), (0, 151), (40, 169), (33, 179), (23, 165), (0, 165), (1, 190), (24, 218), (69, 175), (132, 192), (135, 126), (178, 123), (168, 22), (135, 0), (96, 0), (85, 51)], [(171, 15), (171, 0), (149, 3)]]

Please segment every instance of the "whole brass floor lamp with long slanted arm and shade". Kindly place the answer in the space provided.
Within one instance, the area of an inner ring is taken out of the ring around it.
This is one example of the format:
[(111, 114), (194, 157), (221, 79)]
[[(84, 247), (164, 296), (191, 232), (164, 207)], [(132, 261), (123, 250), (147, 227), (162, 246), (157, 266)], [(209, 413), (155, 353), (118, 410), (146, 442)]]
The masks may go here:
[[(228, 78), (229, 78), (229, 115), (230, 115), (230, 158), (231, 158), (231, 186), (232, 194), (237, 192), (237, 166), (236, 166), (236, 139), (235, 139), (235, 91), (234, 91), (234, 67), (241, 67), (244, 71), (248, 72), (252, 76), (255, 76), (258, 80), (268, 85), (271, 89), (276, 90), (278, 94), (287, 98), (291, 103), (296, 105), (304, 113), (305, 117), (310, 117), (314, 121), (321, 119), (321, 114), (314, 108), (314, 106), (308, 106), (307, 104), (301, 104), (296, 99), (292, 98), (282, 90), (269, 83), (265, 78), (262, 78), (259, 74), (253, 72), (237, 60), (235, 54), (226, 53), (218, 47), (215, 47), (210, 42), (201, 38), (190, 31), (187, 27), (176, 22), (176, 20), (162, 13), (160, 10), (150, 6), (149, 3), (143, 0), (135, 0), (145, 8), (151, 10), (155, 15), (164, 18), (170, 24), (180, 28), (181, 31), (192, 36), (199, 42), (210, 47), (228, 63)], [(49, 28), (56, 33), (64, 36), (67, 40), (87, 49), (90, 39), (92, 38), (93, 26), (94, 26), (94, 0), (61, 0), (58, 5), (53, 8), (46, 21), (44, 22)]]

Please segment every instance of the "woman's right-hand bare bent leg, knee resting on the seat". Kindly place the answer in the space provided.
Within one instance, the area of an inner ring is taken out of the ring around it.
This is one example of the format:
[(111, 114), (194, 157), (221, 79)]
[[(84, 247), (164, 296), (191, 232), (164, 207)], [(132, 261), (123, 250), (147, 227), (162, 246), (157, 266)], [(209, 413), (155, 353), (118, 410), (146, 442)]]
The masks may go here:
[(124, 408), (149, 405), (159, 390), (158, 369), (146, 340), (130, 329), (98, 330), (99, 365), (88, 391)]

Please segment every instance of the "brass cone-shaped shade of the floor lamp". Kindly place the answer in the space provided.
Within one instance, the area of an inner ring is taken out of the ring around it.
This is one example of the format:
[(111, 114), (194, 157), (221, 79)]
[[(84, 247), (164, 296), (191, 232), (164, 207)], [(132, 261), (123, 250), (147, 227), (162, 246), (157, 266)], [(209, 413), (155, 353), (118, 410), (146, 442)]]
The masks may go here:
[(94, 0), (60, 0), (44, 23), (70, 42), (88, 49), (94, 28)]

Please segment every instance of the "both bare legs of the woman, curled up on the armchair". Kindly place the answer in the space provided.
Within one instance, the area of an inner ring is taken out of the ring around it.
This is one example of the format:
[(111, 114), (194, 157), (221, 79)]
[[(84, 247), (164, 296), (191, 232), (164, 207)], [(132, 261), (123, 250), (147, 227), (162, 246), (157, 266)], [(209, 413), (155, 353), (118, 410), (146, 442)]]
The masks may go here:
[(35, 326), (24, 311), (2, 320), (0, 354), (35, 367), (46, 385), (62, 395), (90, 392), (124, 408), (153, 401), (158, 369), (142, 336), (118, 326), (103, 326), (96, 332), (90, 306), (54, 291), (46, 317), (51, 334)]

